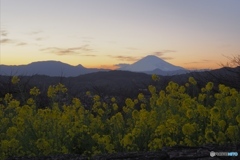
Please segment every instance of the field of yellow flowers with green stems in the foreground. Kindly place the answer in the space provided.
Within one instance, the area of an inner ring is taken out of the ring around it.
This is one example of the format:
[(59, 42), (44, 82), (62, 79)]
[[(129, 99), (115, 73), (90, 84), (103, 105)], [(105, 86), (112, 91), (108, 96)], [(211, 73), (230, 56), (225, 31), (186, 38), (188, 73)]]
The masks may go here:
[[(153, 80), (159, 78), (153, 75)], [(17, 85), (20, 79), (12, 78)], [(164, 90), (148, 87), (150, 96), (139, 93), (124, 106), (112, 97), (106, 103), (87, 92), (93, 105), (80, 99), (59, 103), (67, 92), (63, 84), (49, 86), (51, 106), (36, 107), (41, 91), (34, 87), (20, 103), (11, 94), (0, 98), (0, 159), (129, 151), (155, 151), (164, 146), (199, 146), (240, 142), (240, 93), (208, 82), (199, 92), (190, 77), (185, 85), (169, 82)], [(213, 92), (213, 88), (217, 91)], [(192, 95), (189, 92), (194, 93)], [(88, 108), (88, 109), (86, 109)], [(90, 108), (90, 109), (89, 109)]]

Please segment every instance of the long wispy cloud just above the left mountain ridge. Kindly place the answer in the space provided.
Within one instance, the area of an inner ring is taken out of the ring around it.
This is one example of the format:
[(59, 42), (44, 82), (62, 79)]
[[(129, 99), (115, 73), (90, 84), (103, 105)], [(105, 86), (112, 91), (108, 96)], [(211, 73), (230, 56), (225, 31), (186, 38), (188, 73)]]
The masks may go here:
[(93, 51), (93, 49), (91, 49), (89, 47), (89, 45), (86, 44), (86, 45), (82, 45), (80, 47), (73, 47), (73, 48), (49, 47), (49, 48), (43, 48), (40, 51), (49, 52), (52, 54), (63, 56), (63, 55), (77, 55), (77, 54), (82, 54), (82, 53), (86, 53), (86, 52), (91, 52), (91, 51)]

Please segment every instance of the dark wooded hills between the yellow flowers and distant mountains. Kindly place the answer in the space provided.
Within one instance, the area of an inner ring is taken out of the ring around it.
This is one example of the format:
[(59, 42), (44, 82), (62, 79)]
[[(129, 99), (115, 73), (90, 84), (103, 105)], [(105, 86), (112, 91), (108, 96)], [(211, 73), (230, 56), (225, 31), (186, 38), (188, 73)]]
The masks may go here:
[(83, 105), (91, 106), (91, 99), (86, 96), (86, 92), (90, 91), (92, 94), (97, 94), (102, 97), (106, 102), (113, 96), (122, 106), (126, 98), (136, 98), (140, 92), (144, 93), (145, 96), (150, 96), (148, 92), (149, 85), (154, 85), (157, 90), (163, 90), (170, 81), (184, 85), (189, 77), (194, 77), (198, 82), (196, 84), (198, 91), (203, 88), (207, 82), (213, 82), (215, 84), (213, 88), (214, 91), (217, 91), (219, 84), (225, 84), (238, 91), (240, 90), (240, 67), (224, 67), (205, 72), (159, 76), (160, 81), (157, 82), (152, 81), (151, 75), (127, 71), (98, 72), (68, 78), (43, 75), (20, 76), (21, 81), (18, 85), (12, 84), (12, 76), (0, 76), (0, 97), (3, 97), (6, 93), (10, 93), (18, 100), (25, 102), (30, 96), (29, 90), (37, 87), (41, 90), (41, 94), (38, 95), (36, 99), (36, 105), (41, 108), (43, 106), (49, 106), (51, 103), (47, 97), (48, 87), (61, 83), (68, 88), (67, 94), (59, 98), (59, 101), (64, 103), (71, 102), (71, 99), (75, 97), (79, 98)]

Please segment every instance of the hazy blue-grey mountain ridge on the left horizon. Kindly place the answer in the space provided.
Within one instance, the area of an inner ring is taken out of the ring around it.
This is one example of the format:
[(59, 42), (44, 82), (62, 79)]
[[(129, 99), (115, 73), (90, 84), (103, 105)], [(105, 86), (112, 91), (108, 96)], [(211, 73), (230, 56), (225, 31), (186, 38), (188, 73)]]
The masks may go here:
[(88, 73), (108, 71), (107, 69), (85, 68), (82, 65), (72, 66), (60, 61), (38, 61), (27, 65), (0, 65), (0, 75), (47, 75), (75, 77)]

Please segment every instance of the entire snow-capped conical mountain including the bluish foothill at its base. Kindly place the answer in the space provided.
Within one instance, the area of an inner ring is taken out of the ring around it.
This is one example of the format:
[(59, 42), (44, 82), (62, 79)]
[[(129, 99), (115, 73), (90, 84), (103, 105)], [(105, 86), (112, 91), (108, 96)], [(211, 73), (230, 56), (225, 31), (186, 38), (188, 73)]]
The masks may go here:
[(174, 75), (188, 72), (186, 69), (172, 65), (154, 55), (148, 55), (131, 65), (120, 67), (118, 70), (159, 75)]

